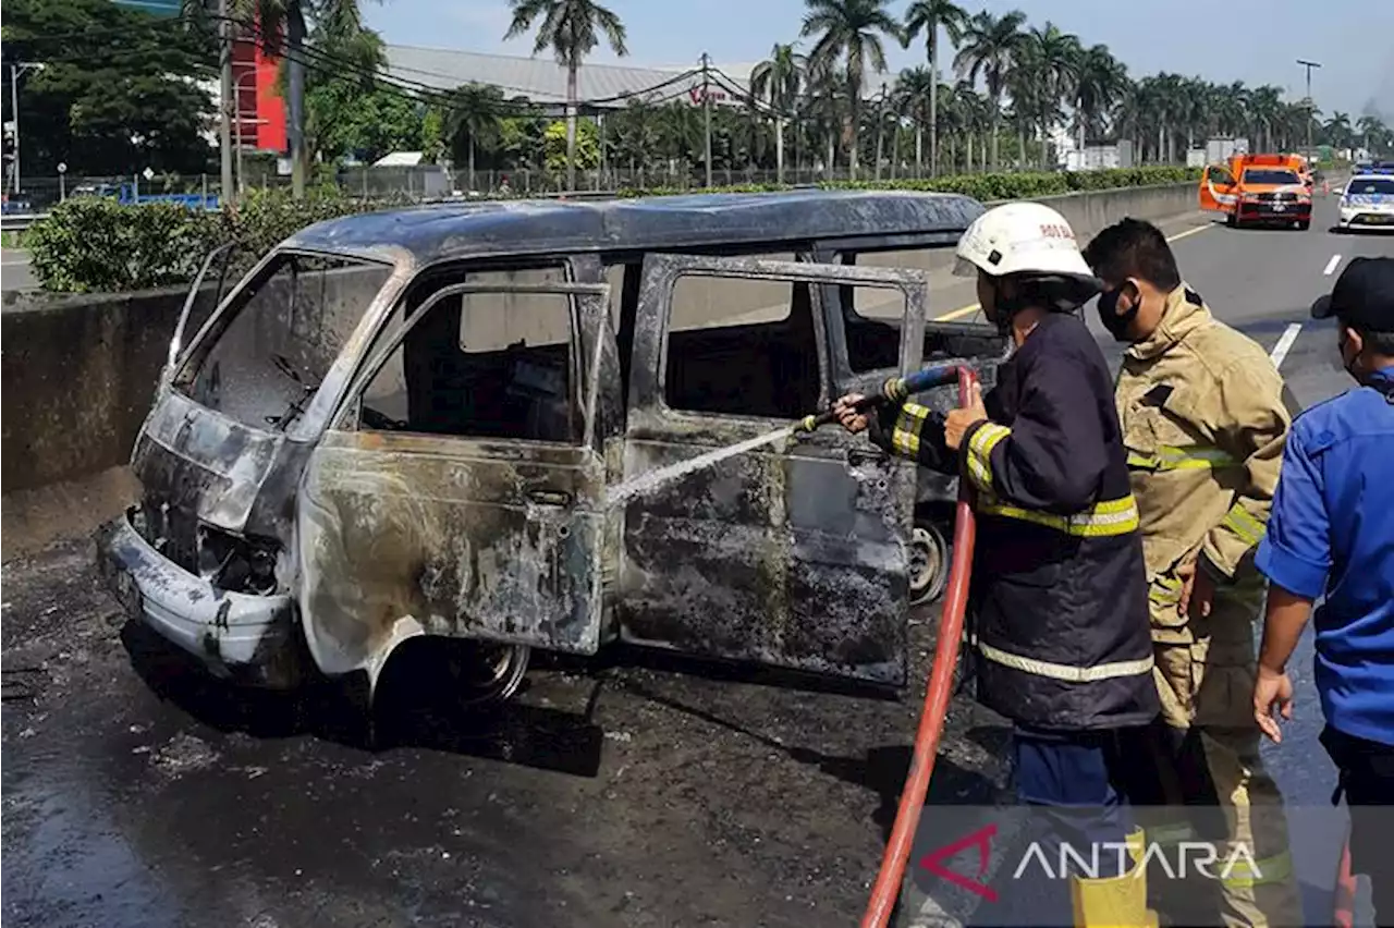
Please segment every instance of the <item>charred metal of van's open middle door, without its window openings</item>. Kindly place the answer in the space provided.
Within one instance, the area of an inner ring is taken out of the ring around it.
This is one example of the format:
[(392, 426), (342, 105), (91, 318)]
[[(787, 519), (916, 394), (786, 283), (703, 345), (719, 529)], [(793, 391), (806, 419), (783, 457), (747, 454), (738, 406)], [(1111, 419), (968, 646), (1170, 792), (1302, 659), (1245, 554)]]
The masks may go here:
[[(831, 399), (832, 364), (822, 284), (899, 290), (907, 332), (899, 368), (919, 366), (928, 294), (924, 272), (651, 254), (640, 302), (647, 315), (637, 326), (630, 369), (626, 479), (691, 457), (694, 449), (781, 425), (668, 405), (672, 291), (679, 277), (693, 274), (807, 284), (824, 401)], [(714, 481), (725, 489), (714, 490)], [(776, 485), (779, 499), (764, 492)], [(765, 509), (751, 509), (756, 499), (765, 499)], [(737, 456), (719, 472), (693, 474), (631, 500), (623, 510), (620, 637), (693, 656), (903, 686), (913, 503), (912, 464), (836, 428), (792, 447)]]

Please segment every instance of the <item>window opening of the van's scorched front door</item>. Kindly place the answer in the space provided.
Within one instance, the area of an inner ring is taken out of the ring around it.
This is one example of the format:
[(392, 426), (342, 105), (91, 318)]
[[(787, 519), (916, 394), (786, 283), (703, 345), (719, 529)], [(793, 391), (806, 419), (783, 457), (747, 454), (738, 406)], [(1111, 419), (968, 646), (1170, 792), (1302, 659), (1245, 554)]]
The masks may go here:
[[(566, 269), (457, 273), (418, 290), (413, 301), (420, 305), (439, 286), (461, 281), (565, 283)], [(506, 290), (436, 302), (364, 389), (360, 428), (579, 443), (584, 429), (574, 383), (573, 302), (570, 294)]]

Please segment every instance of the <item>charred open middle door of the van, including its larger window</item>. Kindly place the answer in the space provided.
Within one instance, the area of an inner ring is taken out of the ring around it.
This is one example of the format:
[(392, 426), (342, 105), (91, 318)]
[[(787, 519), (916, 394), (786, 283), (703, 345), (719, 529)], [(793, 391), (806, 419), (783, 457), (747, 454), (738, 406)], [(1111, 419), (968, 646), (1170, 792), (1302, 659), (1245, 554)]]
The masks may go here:
[[(919, 320), (899, 368), (916, 368), (928, 286), (920, 272), (645, 259), (618, 490), (625, 640), (905, 683), (913, 465), (835, 425), (800, 439), (775, 435), (834, 399), (822, 291), (839, 284), (899, 297), (906, 319)], [(765, 309), (722, 319), (728, 305)], [(676, 319), (684, 307), (707, 316)], [(761, 436), (772, 438), (658, 478)], [(636, 479), (644, 492), (626, 497)]]

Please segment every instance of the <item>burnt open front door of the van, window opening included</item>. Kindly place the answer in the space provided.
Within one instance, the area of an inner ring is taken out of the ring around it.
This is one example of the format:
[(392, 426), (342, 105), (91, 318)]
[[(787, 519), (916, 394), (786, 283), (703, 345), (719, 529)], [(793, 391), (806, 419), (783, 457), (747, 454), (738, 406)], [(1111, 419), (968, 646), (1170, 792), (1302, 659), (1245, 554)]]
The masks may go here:
[(406, 637), (594, 654), (609, 288), (510, 272), (408, 288), (311, 454), (297, 532), (325, 673)]

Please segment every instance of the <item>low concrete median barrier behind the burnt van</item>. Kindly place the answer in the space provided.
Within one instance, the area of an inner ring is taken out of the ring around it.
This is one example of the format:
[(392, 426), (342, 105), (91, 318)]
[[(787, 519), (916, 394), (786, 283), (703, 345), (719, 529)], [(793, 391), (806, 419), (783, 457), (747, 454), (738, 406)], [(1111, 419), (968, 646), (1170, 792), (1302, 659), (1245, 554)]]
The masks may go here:
[[(1193, 212), (1195, 196), (1195, 185), (1177, 184), (1040, 202), (1059, 209), (1086, 240), (1124, 216), (1163, 220)], [(930, 268), (948, 266), (952, 249), (927, 258)], [(0, 294), (0, 560), (91, 528), (130, 499), (134, 484), (123, 465), (184, 295), (181, 288)], [(195, 322), (210, 304), (209, 291)]]

